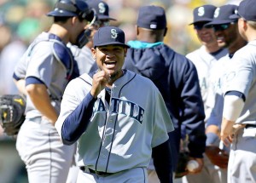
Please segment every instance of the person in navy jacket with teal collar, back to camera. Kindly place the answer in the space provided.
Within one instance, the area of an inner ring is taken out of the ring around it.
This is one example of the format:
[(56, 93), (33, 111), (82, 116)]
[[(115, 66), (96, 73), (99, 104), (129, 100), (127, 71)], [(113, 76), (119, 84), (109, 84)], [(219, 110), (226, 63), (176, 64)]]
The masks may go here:
[[(205, 150), (204, 108), (195, 66), (163, 43), (166, 13), (159, 6), (143, 6), (137, 17), (137, 40), (130, 41), (124, 68), (150, 78), (160, 89), (172, 117), (175, 131), (170, 133), (173, 170), (176, 170), (181, 139), (181, 124), (189, 134), (190, 158), (203, 166)], [(154, 167), (148, 168), (149, 182), (159, 182)]]

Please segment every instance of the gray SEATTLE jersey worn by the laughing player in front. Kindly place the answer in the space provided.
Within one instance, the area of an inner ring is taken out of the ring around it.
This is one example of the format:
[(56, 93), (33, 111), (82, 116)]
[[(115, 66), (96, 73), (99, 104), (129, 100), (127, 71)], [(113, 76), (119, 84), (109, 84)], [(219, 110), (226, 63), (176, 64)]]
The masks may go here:
[[(68, 83), (55, 128), (61, 135), (66, 117), (90, 92), (84, 74)], [(90, 123), (78, 140), (79, 166), (115, 173), (148, 167), (152, 148), (168, 140), (172, 120), (160, 91), (148, 78), (126, 71), (113, 83), (110, 104), (105, 89), (97, 96)]]

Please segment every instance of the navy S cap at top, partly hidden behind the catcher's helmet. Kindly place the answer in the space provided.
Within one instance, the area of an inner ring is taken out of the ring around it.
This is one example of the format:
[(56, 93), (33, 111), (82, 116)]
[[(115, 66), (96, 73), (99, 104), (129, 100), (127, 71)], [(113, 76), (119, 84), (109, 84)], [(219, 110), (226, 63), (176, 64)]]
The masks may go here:
[(95, 9), (98, 20), (116, 20), (109, 17), (108, 3), (102, 0), (88, 0), (86, 1), (91, 9)]

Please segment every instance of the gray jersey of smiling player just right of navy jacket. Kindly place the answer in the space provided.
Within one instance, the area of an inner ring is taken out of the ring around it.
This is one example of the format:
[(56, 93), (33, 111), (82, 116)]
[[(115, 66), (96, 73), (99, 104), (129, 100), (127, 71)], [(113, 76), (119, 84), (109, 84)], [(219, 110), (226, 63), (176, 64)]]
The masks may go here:
[[(207, 102), (207, 95), (209, 91), (209, 77), (212, 75), (212, 66), (214, 66), (218, 59), (227, 54), (226, 49), (220, 50), (217, 54), (209, 54), (205, 46), (201, 46), (200, 49), (196, 49), (195, 51), (186, 55), (186, 57), (191, 60), (195, 67), (199, 77), (200, 88), (201, 88), (201, 96), (204, 104)], [(207, 121), (210, 110), (205, 106), (205, 113)]]

